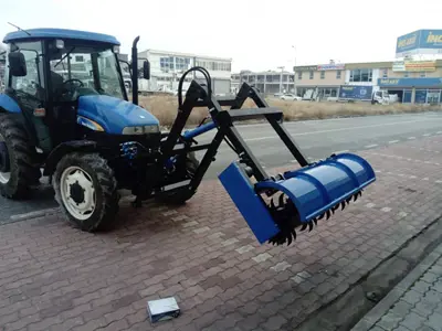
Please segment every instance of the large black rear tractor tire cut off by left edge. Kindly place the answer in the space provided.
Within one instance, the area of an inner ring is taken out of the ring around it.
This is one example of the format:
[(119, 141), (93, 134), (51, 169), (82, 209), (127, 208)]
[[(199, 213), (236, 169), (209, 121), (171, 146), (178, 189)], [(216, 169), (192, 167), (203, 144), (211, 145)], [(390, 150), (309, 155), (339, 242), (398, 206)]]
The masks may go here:
[(11, 200), (30, 197), (41, 171), (36, 151), (22, 126), (10, 115), (0, 115), (0, 193)]

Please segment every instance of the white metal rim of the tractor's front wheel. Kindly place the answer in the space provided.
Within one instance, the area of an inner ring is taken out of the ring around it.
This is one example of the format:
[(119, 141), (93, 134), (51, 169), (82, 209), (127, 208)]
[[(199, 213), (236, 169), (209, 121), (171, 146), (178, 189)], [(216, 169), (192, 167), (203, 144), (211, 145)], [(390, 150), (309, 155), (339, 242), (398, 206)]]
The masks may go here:
[(92, 216), (96, 194), (92, 177), (78, 167), (66, 168), (60, 179), (60, 192), (67, 212), (80, 221)]

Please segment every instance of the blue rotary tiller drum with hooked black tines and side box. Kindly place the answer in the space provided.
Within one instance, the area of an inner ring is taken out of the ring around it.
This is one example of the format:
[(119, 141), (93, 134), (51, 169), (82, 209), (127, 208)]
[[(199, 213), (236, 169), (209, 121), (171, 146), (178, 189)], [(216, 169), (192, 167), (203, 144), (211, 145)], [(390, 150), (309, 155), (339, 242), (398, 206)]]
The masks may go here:
[[(376, 179), (371, 166), (350, 153), (332, 156), (255, 184), (238, 162), (219, 178), (257, 241), (278, 245), (296, 239), (297, 227), (312, 231), (318, 220), (344, 210)], [(265, 195), (270, 195), (267, 202)]]

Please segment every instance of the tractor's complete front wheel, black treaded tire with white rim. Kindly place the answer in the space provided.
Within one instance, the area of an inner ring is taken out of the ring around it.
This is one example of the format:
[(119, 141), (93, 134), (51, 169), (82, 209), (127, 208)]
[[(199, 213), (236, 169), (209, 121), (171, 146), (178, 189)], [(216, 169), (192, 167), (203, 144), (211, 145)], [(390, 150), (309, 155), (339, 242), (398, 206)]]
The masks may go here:
[(71, 224), (85, 232), (110, 229), (119, 194), (114, 171), (98, 153), (64, 156), (53, 175), (55, 200)]

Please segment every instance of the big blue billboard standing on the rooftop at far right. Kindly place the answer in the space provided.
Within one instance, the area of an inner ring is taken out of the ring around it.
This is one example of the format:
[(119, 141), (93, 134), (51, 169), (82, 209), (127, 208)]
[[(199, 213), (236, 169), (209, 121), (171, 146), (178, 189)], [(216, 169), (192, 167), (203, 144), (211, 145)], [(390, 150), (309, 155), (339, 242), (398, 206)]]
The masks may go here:
[(396, 56), (442, 54), (442, 30), (417, 30), (398, 36)]

